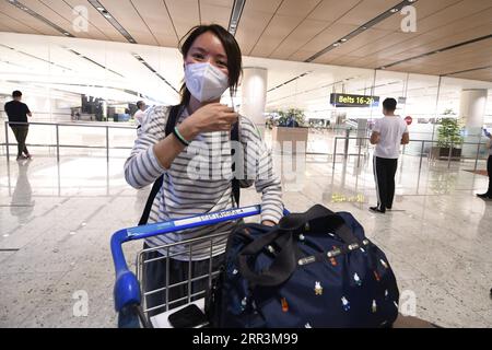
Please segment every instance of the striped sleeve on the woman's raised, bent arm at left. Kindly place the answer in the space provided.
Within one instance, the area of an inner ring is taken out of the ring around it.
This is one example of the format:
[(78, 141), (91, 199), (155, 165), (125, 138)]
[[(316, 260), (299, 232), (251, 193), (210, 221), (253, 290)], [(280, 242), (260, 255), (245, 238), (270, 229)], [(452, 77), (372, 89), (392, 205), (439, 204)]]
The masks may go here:
[(165, 125), (168, 107), (149, 108), (130, 156), (125, 163), (125, 178), (134, 188), (142, 188), (154, 183), (166, 168), (161, 165), (153, 145), (165, 138)]

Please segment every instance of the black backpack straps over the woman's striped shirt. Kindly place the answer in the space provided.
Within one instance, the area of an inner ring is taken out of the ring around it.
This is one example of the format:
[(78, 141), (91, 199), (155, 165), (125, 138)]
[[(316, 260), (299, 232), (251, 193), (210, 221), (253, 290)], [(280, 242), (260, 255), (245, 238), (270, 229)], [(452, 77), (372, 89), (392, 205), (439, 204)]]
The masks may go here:
[[(181, 112), (181, 105), (172, 106), (169, 110), (169, 116), (167, 118), (165, 135), (166, 137), (173, 133), (173, 129), (176, 126), (178, 116)], [(231, 141), (239, 141), (239, 122), (236, 122), (231, 130)], [(233, 154), (233, 150), (231, 149), (231, 154)], [(232, 172), (234, 174), (235, 171), (235, 164), (232, 163)], [(157, 192), (160, 188), (162, 187), (162, 183), (164, 180), (164, 175), (161, 175), (152, 186), (152, 190), (149, 195), (149, 198), (147, 199), (145, 208), (143, 209), (142, 217), (139, 221), (140, 225), (145, 225), (149, 221), (149, 215), (152, 209), (152, 203), (154, 202), (155, 196), (157, 196)], [(237, 178), (232, 179), (232, 197), (233, 197), (233, 203), (235, 203), (236, 207), (239, 207), (239, 196), (241, 196), (241, 183)]]

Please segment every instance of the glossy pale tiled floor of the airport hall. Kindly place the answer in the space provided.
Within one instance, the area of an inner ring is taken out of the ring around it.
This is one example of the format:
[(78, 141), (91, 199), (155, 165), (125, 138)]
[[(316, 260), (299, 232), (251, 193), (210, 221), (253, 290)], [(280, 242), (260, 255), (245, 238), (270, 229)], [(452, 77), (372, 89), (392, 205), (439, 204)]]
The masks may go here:
[[(68, 152), (70, 153), (70, 152)], [(104, 153), (104, 152), (103, 152)], [(114, 152), (117, 153), (117, 152)], [(125, 154), (49, 154), (32, 162), (0, 156), (0, 327), (114, 327), (114, 270), (109, 237), (133, 226), (148, 190), (122, 177)], [(370, 159), (309, 156), (302, 177), (289, 183), (293, 211), (324, 203), (350, 211), (387, 254), (402, 292), (402, 307), (445, 327), (491, 327), (492, 202), (475, 196), (487, 177), (471, 163), (422, 162), (403, 156), (395, 211), (371, 213), (375, 202)], [(483, 168), (483, 163), (479, 167)], [(258, 196), (244, 190), (243, 203)], [(141, 244), (125, 250), (132, 262)], [(78, 291), (89, 298), (78, 317)], [(410, 305), (410, 306), (409, 306)]]

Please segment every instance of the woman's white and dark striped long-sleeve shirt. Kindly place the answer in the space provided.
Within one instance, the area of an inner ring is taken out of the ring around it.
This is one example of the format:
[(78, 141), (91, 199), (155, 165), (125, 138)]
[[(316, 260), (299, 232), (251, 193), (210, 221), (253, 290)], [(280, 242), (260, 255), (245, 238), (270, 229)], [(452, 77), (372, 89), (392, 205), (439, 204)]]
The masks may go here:
[[(155, 156), (153, 145), (163, 140), (169, 107), (157, 106), (147, 112), (140, 135), (134, 142), (131, 154), (125, 164), (125, 177), (132, 187), (142, 188), (154, 183), (164, 174), (160, 189), (150, 213), (149, 223), (177, 220), (196, 214), (203, 214), (233, 207), (231, 186), (231, 139), (230, 132), (200, 133), (173, 161), (169, 168), (162, 166)], [(183, 108), (178, 118), (180, 124), (188, 113)], [(265, 145), (258, 129), (246, 117), (239, 118), (239, 140), (244, 154), (244, 168), (247, 185), (255, 184), (261, 192), (261, 220), (278, 222), (282, 217), (282, 188), (280, 178), (273, 172), (270, 152)], [(236, 174), (241, 170), (236, 162)], [(237, 177), (237, 175), (236, 175)], [(151, 247), (162, 246), (188, 238), (231, 230), (233, 223), (191, 229), (173, 234), (160, 235), (147, 240)], [(210, 242), (194, 245), (191, 259), (200, 260), (210, 256)], [(225, 238), (214, 241), (212, 255), (222, 254)], [(169, 252), (174, 258), (188, 260), (189, 246), (176, 245)]]

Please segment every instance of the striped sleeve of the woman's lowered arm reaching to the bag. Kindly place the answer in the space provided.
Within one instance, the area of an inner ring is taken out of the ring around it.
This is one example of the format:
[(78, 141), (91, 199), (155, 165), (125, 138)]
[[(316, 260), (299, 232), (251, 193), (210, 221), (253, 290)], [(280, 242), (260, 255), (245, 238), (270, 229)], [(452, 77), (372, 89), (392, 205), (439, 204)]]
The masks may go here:
[(271, 151), (251, 120), (242, 117), (242, 143), (245, 148), (245, 166), (248, 178), (254, 170), (255, 187), (261, 194), (261, 221), (276, 223), (283, 217), (282, 184), (274, 172)]

